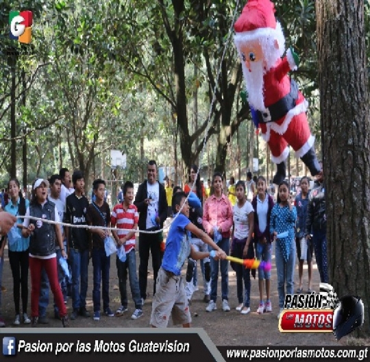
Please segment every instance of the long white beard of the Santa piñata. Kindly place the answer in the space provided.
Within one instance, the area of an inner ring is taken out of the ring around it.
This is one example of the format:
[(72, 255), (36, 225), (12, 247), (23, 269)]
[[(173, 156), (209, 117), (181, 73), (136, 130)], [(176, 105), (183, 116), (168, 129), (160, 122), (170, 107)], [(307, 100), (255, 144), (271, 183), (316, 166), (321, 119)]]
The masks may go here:
[(263, 62), (254, 62), (250, 64), (251, 71), (242, 63), (243, 74), (248, 92), (249, 104), (256, 110), (264, 110), (264, 84)]

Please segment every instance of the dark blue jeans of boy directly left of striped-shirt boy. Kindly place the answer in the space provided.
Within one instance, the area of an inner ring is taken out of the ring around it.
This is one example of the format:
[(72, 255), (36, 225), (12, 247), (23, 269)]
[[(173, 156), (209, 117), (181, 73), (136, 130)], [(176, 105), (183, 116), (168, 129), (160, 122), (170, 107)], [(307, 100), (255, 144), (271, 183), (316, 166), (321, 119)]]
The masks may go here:
[(100, 282), (102, 282), (103, 311), (109, 308), (109, 269), (110, 256), (104, 248), (93, 249), (93, 304), (94, 312), (100, 311)]

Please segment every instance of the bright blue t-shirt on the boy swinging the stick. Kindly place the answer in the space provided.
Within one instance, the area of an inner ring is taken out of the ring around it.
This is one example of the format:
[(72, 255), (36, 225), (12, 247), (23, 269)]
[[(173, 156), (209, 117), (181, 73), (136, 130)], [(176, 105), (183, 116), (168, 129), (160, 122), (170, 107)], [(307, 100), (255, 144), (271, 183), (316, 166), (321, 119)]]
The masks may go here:
[(178, 215), (167, 235), (162, 268), (177, 276), (181, 275), (182, 265), (190, 254), (190, 233), (185, 229), (189, 223), (190, 220), (185, 215)]

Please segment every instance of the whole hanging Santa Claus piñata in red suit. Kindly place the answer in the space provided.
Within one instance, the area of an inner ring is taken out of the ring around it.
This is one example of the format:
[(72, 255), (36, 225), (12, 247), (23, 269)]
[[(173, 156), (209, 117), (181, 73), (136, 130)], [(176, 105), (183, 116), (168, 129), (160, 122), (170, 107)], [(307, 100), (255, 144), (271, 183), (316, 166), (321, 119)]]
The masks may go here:
[(280, 184), (286, 177), (288, 145), (312, 176), (320, 173), (321, 167), (307, 121), (308, 102), (287, 75), (297, 69), (298, 57), (288, 49), (282, 58), (285, 39), (274, 13), (270, 0), (249, 0), (234, 25), (234, 42), (242, 60), (254, 123), (277, 164), (273, 182)]

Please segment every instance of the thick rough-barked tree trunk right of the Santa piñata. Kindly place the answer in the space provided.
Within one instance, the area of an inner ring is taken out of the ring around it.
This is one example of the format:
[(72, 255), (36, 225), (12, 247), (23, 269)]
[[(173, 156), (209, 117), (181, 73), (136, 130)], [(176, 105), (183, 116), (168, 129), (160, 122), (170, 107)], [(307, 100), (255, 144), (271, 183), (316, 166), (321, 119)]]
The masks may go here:
[[(370, 124), (364, 1), (316, 1), (329, 280), (358, 295), (370, 335)], [(339, 221), (339, 222), (338, 222)]]

